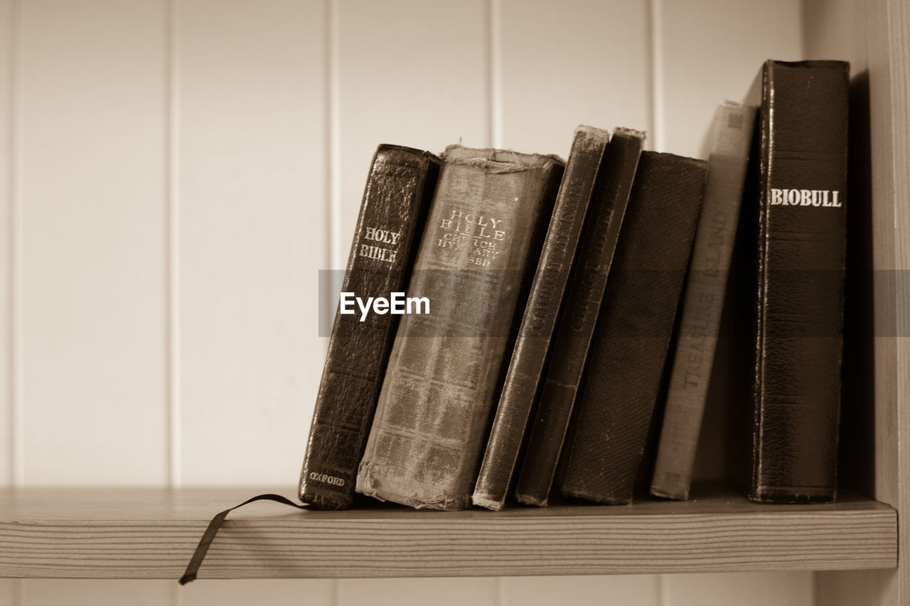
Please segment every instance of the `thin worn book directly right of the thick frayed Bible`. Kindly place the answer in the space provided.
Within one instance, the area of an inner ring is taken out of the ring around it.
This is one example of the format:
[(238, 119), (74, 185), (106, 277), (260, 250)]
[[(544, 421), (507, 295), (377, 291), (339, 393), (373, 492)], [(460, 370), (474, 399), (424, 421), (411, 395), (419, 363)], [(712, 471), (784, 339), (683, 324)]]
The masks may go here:
[(505, 504), (609, 140), (608, 131), (592, 126), (579, 126), (572, 136), (569, 160), (471, 497), (474, 505), (497, 511)]

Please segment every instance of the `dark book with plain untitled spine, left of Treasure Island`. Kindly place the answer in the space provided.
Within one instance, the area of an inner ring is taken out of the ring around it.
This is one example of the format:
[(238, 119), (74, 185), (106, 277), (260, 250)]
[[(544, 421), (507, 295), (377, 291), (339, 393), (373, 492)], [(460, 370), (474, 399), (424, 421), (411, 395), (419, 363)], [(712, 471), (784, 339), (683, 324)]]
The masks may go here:
[(706, 173), (702, 160), (642, 152), (576, 403), (565, 496), (632, 500)]

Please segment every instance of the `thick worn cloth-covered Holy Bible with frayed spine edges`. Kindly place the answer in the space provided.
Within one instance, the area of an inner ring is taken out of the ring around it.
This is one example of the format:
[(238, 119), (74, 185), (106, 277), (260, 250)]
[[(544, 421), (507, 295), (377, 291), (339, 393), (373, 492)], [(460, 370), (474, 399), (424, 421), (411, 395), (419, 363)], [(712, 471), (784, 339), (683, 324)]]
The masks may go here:
[(470, 505), (480, 457), (562, 176), (557, 157), (450, 146), (357, 490), (416, 508)]

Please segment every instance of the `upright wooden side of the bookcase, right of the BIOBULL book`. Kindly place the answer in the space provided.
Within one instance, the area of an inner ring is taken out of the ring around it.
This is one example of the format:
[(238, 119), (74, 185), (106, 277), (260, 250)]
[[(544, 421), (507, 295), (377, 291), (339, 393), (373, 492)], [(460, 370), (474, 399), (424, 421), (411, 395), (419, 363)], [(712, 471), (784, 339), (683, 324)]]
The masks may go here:
[[(854, 81), (854, 88), (868, 88), (868, 106), (863, 104), (860, 111), (869, 112), (870, 132), (851, 132), (851, 145), (861, 142), (855, 151), (866, 155), (863, 162), (868, 165), (867, 174), (851, 179), (868, 187), (865, 193), (871, 197), (870, 252), (876, 270), (873, 292), (879, 330), (874, 339), (875, 413), (870, 435), (875, 442), (874, 482), (866, 483), (871, 485), (870, 496), (895, 507), (898, 517), (905, 520), (910, 510), (910, 386), (906, 372), (910, 366), (910, 338), (906, 337), (906, 318), (910, 317), (910, 8), (905, 0), (858, 4), (809, 0), (804, 6), (807, 49), (836, 51), (849, 59), (851, 73), (863, 75), (857, 78), (859, 83)], [(869, 404), (868, 400), (860, 402)], [(867, 444), (861, 446), (869, 449)], [(871, 467), (867, 469), (873, 472)], [(910, 601), (907, 529), (907, 524), (899, 524), (902, 555), (895, 571), (816, 573), (817, 603), (863, 601), (896, 606)]]

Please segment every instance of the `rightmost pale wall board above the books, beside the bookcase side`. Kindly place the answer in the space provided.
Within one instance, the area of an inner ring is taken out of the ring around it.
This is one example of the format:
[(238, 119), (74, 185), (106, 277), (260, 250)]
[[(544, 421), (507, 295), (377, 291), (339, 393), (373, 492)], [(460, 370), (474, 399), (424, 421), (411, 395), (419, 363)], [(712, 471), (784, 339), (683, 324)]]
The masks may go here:
[(742, 101), (765, 59), (803, 58), (798, 0), (658, 0), (665, 149), (706, 157), (714, 107)]

